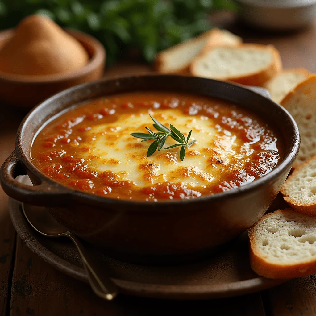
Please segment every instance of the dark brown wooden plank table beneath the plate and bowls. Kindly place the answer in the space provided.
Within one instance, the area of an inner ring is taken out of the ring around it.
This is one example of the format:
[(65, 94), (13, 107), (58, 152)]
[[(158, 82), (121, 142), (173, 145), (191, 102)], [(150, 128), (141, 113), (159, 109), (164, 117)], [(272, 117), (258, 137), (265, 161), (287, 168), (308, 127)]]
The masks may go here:
[[(296, 33), (269, 34), (245, 29), (228, 14), (214, 21), (246, 42), (274, 44), (284, 67), (316, 72), (316, 21)], [(148, 71), (144, 64), (121, 63), (106, 76)], [(5, 107), (0, 117), (0, 162), (14, 148), (15, 132), (25, 113)], [(294, 279), (276, 288), (235, 298), (210, 301), (161, 301), (119, 295), (112, 302), (96, 297), (87, 284), (54, 270), (35, 256), (16, 235), (8, 200), (0, 190), (0, 316), (4, 315), (316, 315), (316, 277)]]

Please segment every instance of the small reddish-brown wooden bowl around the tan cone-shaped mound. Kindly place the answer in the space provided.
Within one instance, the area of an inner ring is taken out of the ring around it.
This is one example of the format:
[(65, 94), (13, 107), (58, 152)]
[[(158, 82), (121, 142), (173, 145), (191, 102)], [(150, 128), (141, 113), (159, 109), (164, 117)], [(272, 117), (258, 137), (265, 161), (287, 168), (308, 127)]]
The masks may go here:
[[(106, 52), (94, 37), (67, 29), (87, 50), (90, 60), (87, 65), (71, 73), (28, 76), (0, 71), (0, 100), (15, 106), (32, 108), (40, 101), (58, 91), (100, 78), (104, 71)], [(0, 32), (0, 47), (13, 36), (14, 30)]]

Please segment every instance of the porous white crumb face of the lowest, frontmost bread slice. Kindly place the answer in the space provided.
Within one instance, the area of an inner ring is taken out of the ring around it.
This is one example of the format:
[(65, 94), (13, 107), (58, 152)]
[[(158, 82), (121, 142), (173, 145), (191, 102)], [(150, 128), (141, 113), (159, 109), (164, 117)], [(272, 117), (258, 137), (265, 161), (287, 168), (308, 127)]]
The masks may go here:
[(257, 254), (272, 264), (316, 260), (316, 217), (292, 209), (270, 213), (252, 227)]

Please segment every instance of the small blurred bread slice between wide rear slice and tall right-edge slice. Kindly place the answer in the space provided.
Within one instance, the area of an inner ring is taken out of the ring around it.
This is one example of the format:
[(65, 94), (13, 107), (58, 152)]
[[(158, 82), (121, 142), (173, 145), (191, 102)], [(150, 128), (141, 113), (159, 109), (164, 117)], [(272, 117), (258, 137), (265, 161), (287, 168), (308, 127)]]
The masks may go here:
[(271, 98), (279, 103), (293, 88), (310, 75), (311, 73), (305, 68), (284, 69), (266, 82), (264, 88), (267, 88)]

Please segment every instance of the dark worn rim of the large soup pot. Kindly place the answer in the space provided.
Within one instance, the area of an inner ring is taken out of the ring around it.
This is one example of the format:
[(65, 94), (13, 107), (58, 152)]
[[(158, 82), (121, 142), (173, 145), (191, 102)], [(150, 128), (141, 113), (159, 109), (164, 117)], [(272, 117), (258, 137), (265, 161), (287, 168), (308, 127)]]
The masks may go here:
[[(80, 85), (68, 88), (66, 90), (63, 90), (51, 97), (49, 97), (48, 99), (44, 100), (43, 102), (40, 102), (37, 106), (35, 106), (30, 112), (27, 113), (27, 115), (25, 116), (25, 118), (22, 120), (19, 128), (18, 128), (18, 132), (17, 132), (17, 136), (16, 136), (16, 143), (15, 143), (15, 152), (17, 153), (18, 157), (20, 158), (20, 160), (24, 163), (25, 167), (27, 168), (27, 170), (29, 170), (30, 172), (32, 172), (33, 174), (35, 173), (35, 175), (41, 179), (41, 181), (45, 180), (48, 183), (51, 183), (55, 186), (59, 186), (61, 187), (61, 189), (64, 191), (63, 194), (67, 194), (67, 197), (70, 200), (75, 199), (76, 201), (80, 200), (80, 201), (89, 201), (90, 204), (94, 204), (94, 205), (99, 205), (100, 207), (105, 207), (108, 204), (118, 204), (119, 205), (142, 205), (142, 206), (148, 206), (151, 205), (151, 203), (155, 203), (155, 205), (174, 205), (174, 206), (179, 206), (182, 204), (191, 204), (191, 203), (198, 203), (198, 202), (205, 202), (205, 201), (217, 201), (217, 200), (221, 200), (221, 199), (225, 199), (230, 198), (230, 197), (235, 197), (238, 195), (242, 195), (244, 193), (248, 193), (252, 190), (255, 190), (263, 185), (266, 185), (267, 183), (273, 183), (277, 180), (277, 176), (285, 171), (290, 170), (290, 167), (293, 165), (295, 158), (298, 154), (299, 148), (300, 148), (300, 134), (299, 134), (299, 130), (298, 127), (295, 123), (295, 120), (293, 119), (293, 117), (290, 115), (290, 113), (280, 104), (274, 102), (272, 99), (266, 97), (263, 94), (260, 94), (254, 90), (248, 89), (246, 88), (246, 86), (241, 85), (241, 84), (235, 84), (235, 83), (231, 83), (231, 82), (223, 82), (220, 80), (215, 80), (215, 79), (206, 79), (206, 80), (210, 80), (212, 82), (221, 82), (222, 84), (226, 85), (228, 88), (232, 88), (234, 87), (235, 89), (241, 89), (241, 90), (247, 90), (248, 93), (252, 93), (252, 94), (256, 94), (258, 95), (260, 98), (264, 98), (266, 100), (269, 100), (271, 103), (273, 103), (274, 106), (276, 106), (277, 108), (279, 108), (279, 110), (281, 110), (282, 112), (284, 112), (286, 114), (286, 116), (288, 117), (289, 121), (291, 122), (291, 125), (293, 126), (293, 132), (294, 132), (294, 137), (292, 139), (293, 145), (291, 147), (291, 149), (289, 150), (289, 153), (284, 156), (283, 160), (281, 161), (280, 164), (278, 164), (274, 169), (272, 169), (269, 173), (265, 174), (264, 176), (260, 177), (259, 179), (256, 179), (255, 181), (252, 181), (250, 183), (247, 183), (245, 185), (242, 185), (238, 188), (234, 188), (232, 190), (229, 191), (224, 191), (224, 192), (219, 192), (213, 195), (205, 195), (202, 197), (197, 197), (197, 198), (193, 198), (193, 199), (188, 199), (188, 200), (158, 200), (157, 202), (152, 202), (152, 201), (143, 201), (143, 200), (125, 200), (125, 199), (115, 199), (115, 198), (110, 198), (110, 197), (103, 197), (103, 196), (99, 196), (99, 195), (94, 195), (91, 193), (87, 193), (84, 191), (79, 191), (76, 190), (74, 188), (71, 188), (67, 185), (64, 185), (48, 176), (46, 176), (44, 173), (42, 173), (39, 169), (37, 169), (32, 161), (27, 157), (27, 155), (25, 154), (23, 147), (22, 147), (22, 133), (23, 133), (23, 129), (25, 128), (25, 126), (28, 125), (28, 123), (31, 121), (32, 118), (32, 113), (35, 111), (35, 109), (39, 108), (39, 107), (46, 107), (48, 106), (51, 102), (57, 101), (58, 99), (60, 99), (63, 96), (66, 96), (67, 94), (73, 93), (74, 91), (80, 91), (82, 88), (88, 88), (89, 86), (92, 85), (98, 85), (102, 82), (109, 82), (109, 81), (114, 81), (117, 85), (119, 85), (119, 80), (124, 80), (124, 79), (136, 79), (136, 78), (140, 78), (140, 77), (153, 77), (153, 76), (160, 76), (160, 77), (173, 77), (174, 80), (176, 80), (179, 77), (184, 77), (184, 76), (179, 76), (179, 75), (166, 75), (166, 74), (146, 74), (146, 75), (134, 75), (134, 76), (116, 76), (116, 77), (111, 77), (111, 78), (103, 78), (100, 80), (96, 80), (94, 82), (88, 82), (88, 83), (82, 83)], [(197, 78), (194, 76), (185, 76), (187, 78)], [(205, 78), (198, 78), (198, 79), (204, 79)], [(190, 80), (190, 79), (189, 79)], [(264, 89), (265, 90), (265, 89)], [(124, 93), (124, 92), (122, 92)], [(198, 94), (198, 93), (197, 93)], [(79, 103), (79, 102), (77, 102)], [(54, 114), (58, 115), (60, 111), (56, 112)], [(254, 111), (255, 112), (255, 111)], [(44, 124), (45, 122), (42, 122), (42, 124), (40, 125), (40, 127), (37, 129), (40, 130), (41, 126)], [(36, 133), (33, 136), (36, 136)], [(30, 149), (30, 148), (29, 148)], [(69, 195), (69, 196), (68, 196)], [(156, 209), (156, 208), (155, 208)], [(179, 210), (180, 208), (173, 208), (173, 210)], [(148, 208), (145, 208), (145, 210), (148, 212)], [(181, 209), (180, 209), (181, 210)], [(141, 211), (141, 208), (139, 209), (139, 211)], [(164, 209), (161, 208), (160, 209), (161, 212), (164, 212)]]

